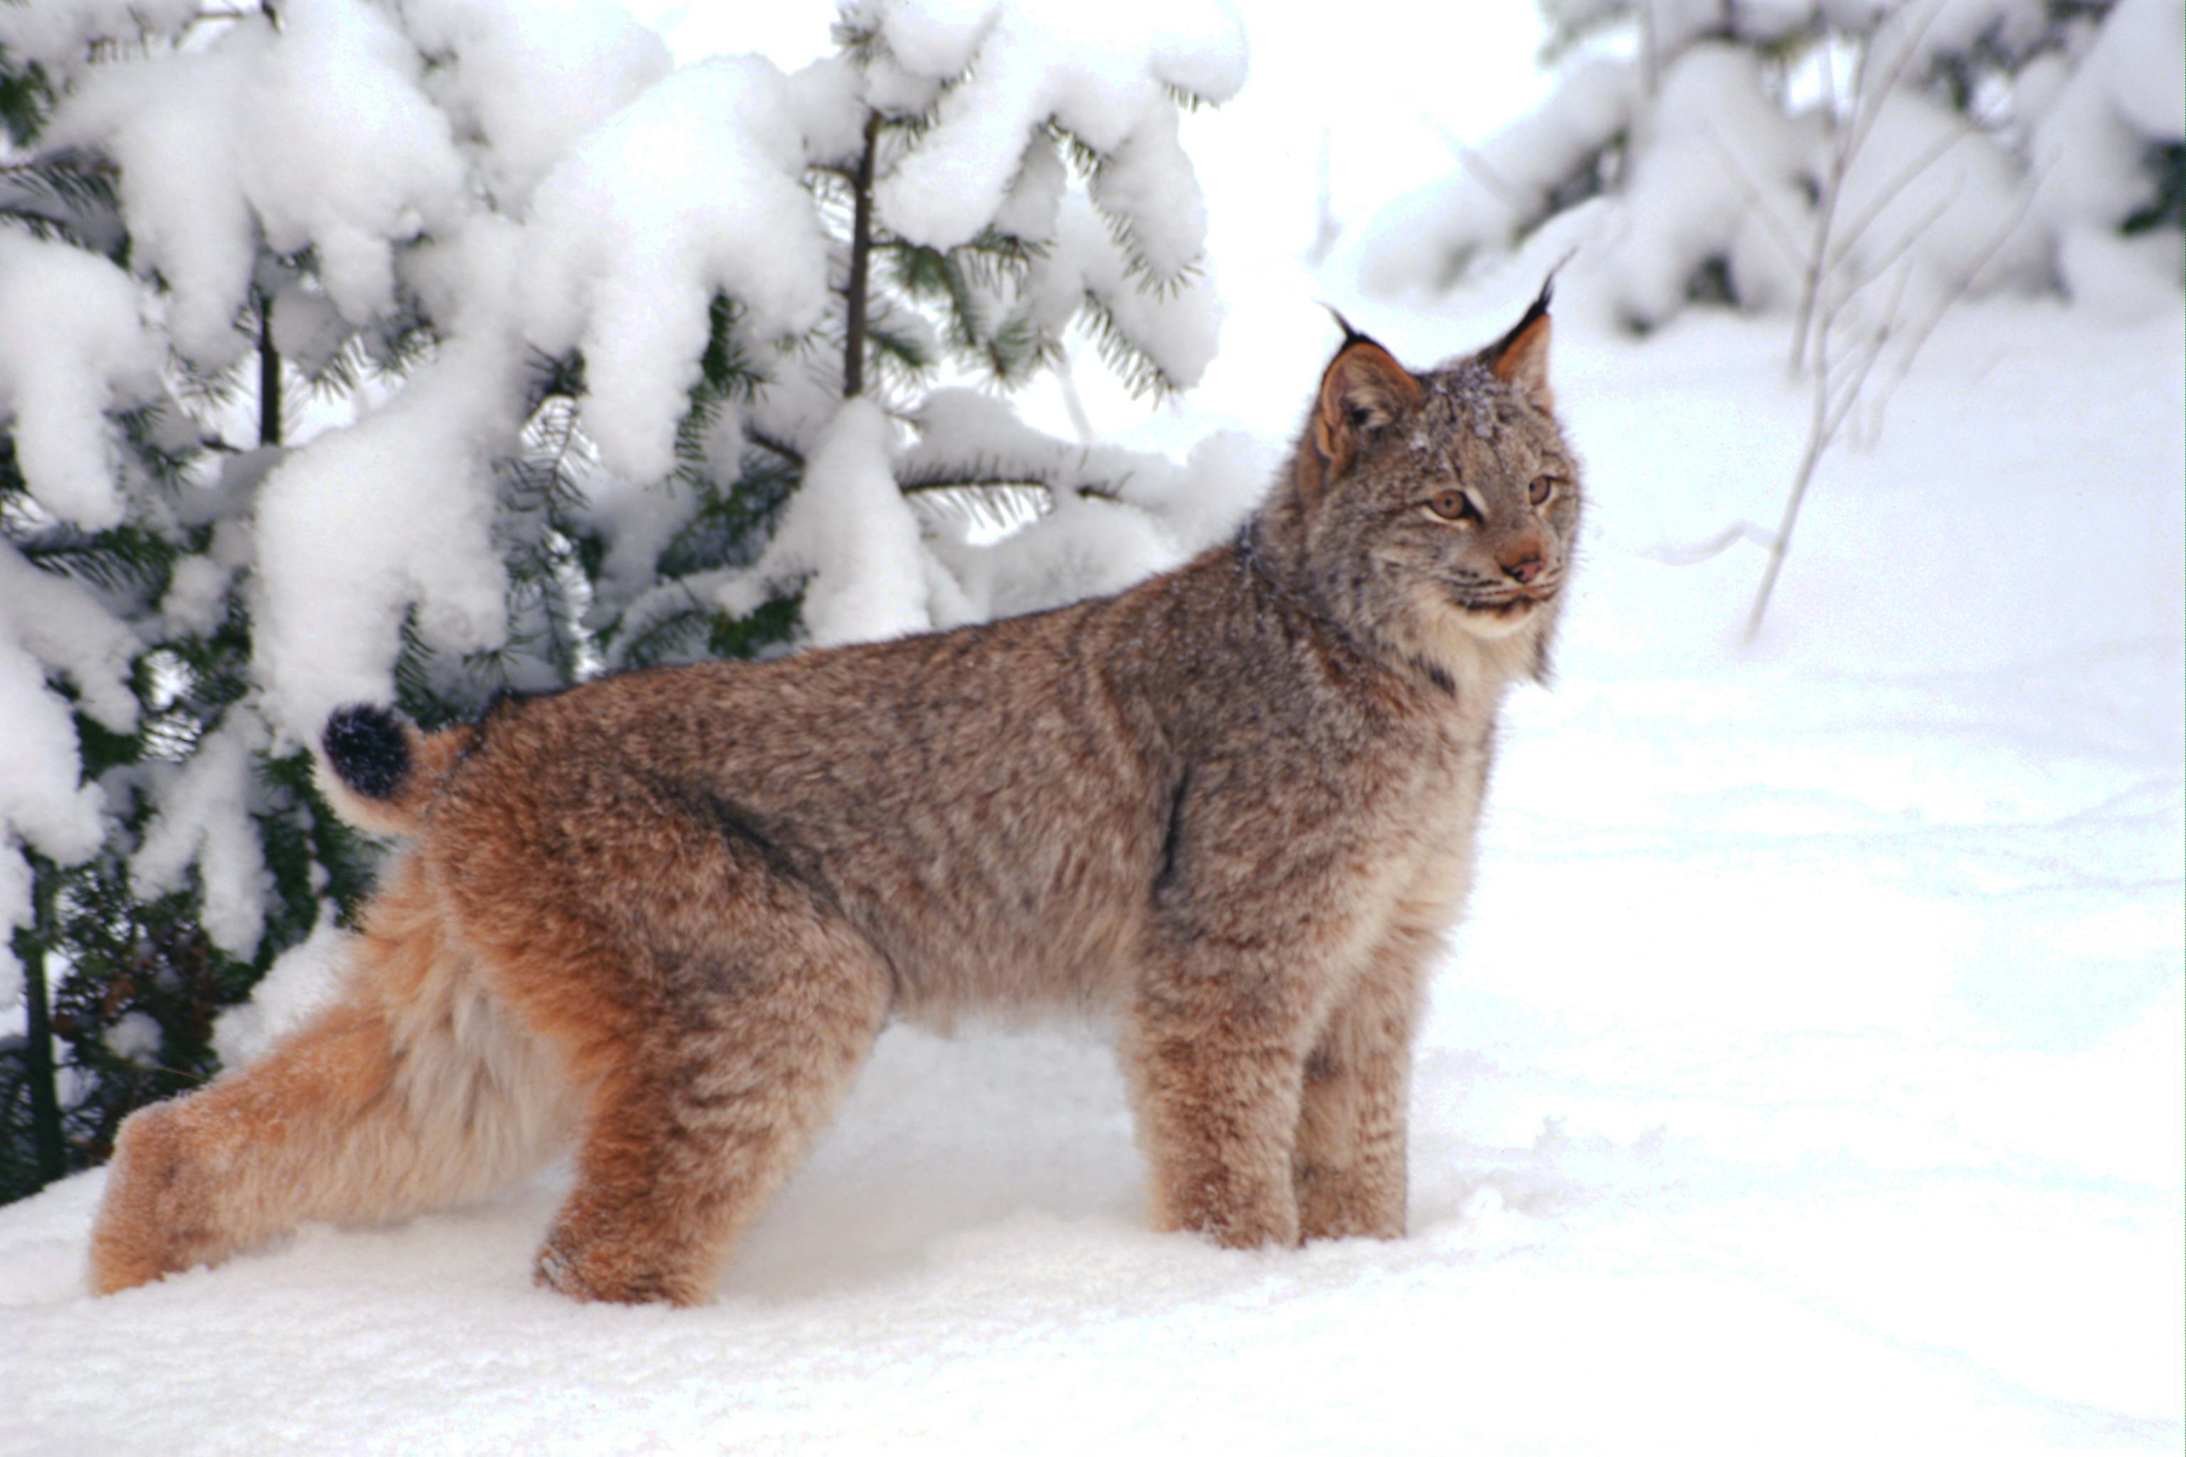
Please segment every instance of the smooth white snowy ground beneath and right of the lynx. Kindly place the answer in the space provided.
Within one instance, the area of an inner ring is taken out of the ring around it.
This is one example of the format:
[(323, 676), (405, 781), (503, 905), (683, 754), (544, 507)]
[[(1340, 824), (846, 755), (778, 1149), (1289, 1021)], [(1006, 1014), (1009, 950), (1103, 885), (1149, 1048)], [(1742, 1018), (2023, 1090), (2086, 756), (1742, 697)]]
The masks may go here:
[(1782, 323), (1574, 312), (1591, 553), (1410, 1239), (1148, 1234), (1106, 1051), (894, 1031), (700, 1311), (531, 1289), (560, 1175), (96, 1304), (101, 1173), (0, 1210), (0, 1448), (2177, 1453), (2177, 308), (1952, 319), (1753, 649), (1758, 550), (1648, 553), (1773, 522)]

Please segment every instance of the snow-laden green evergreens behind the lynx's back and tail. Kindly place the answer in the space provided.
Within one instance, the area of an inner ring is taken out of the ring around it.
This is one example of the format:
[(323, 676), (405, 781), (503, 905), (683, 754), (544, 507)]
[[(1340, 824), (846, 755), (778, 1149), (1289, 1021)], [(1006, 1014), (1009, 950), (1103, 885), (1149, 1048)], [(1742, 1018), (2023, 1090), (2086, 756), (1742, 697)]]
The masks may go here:
[(337, 935), (332, 706), (1049, 605), (1244, 509), (1233, 450), (1001, 398), (1073, 334), (1152, 391), (1209, 360), (1176, 116), (1235, 17), (835, 24), (785, 74), (603, 0), (0, 2), (0, 1199)]

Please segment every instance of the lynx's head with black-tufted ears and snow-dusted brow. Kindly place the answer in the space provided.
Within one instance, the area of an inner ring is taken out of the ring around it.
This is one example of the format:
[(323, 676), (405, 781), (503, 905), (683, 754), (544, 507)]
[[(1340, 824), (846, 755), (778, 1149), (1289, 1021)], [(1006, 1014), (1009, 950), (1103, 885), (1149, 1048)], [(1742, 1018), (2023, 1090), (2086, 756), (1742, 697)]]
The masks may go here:
[(1427, 374), (1344, 325), (1261, 529), (1327, 616), (1443, 686), (1548, 673), (1580, 507), (1548, 299)]

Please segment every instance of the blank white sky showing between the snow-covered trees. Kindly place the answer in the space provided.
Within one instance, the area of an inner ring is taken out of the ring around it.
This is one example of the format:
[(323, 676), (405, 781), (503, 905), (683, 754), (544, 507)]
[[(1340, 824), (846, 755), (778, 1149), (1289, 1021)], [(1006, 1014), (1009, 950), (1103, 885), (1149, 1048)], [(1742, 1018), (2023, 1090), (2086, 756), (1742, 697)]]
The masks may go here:
[[(658, 31), (678, 66), (756, 50), (785, 70), (828, 55), (835, 9), (721, 7), (706, 0), (625, 0)], [(1336, 332), (1323, 304), (1371, 328), (1371, 306), (1327, 297), (1307, 256), (1320, 229), (1320, 168), (1338, 225), (1456, 164), (1473, 144), (1548, 96), (1535, 66), (1541, 17), (1530, 0), (1480, 7), (1362, 2), (1340, 11), (1242, 4), (1250, 76), (1224, 107), (1185, 118), (1185, 149), (1207, 192), (1209, 256), (1226, 301), (1222, 350), (1187, 413), (1150, 411), (1108, 378), (1089, 350), (1073, 376), (1095, 435), (1183, 452), (1215, 422), (1259, 435), (1292, 433), (1294, 398), (1266, 395), (1270, 354), (1298, 356), (1309, 378)], [(1524, 304), (1524, 299), (1519, 299)], [(1047, 380), (1016, 398), (1027, 422), (1071, 435)]]

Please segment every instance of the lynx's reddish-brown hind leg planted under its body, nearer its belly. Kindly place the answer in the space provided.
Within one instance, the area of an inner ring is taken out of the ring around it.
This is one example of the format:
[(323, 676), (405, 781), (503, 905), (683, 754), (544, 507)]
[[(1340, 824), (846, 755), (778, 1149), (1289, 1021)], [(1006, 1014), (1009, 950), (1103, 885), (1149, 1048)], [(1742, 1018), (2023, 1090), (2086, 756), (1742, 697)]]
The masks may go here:
[(658, 946), (636, 979), (656, 996), (621, 1044), (588, 1053), (577, 1184), (540, 1249), (540, 1284), (625, 1304), (706, 1300), (888, 1020), (892, 974), (872, 944), (798, 883), (739, 869), (704, 902), (702, 931), (651, 924)]

